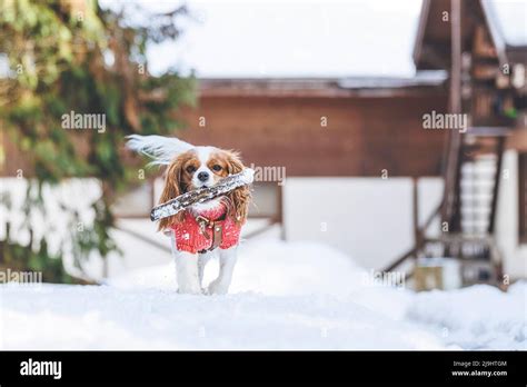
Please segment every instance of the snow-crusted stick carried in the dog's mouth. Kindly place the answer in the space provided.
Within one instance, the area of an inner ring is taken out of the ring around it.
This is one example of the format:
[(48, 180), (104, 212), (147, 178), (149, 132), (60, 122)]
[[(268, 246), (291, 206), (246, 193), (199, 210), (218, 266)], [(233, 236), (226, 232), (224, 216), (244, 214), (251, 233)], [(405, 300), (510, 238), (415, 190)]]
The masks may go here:
[(156, 221), (162, 218), (171, 217), (188, 207), (201, 204), (221, 195), (230, 192), (231, 190), (248, 186), (255, 179), (255, 171), (250, 168), (245, 168), (241, 172), (231, 175), (219, 181), (213, 187), (198, 188), (193, 191), (185, 192), (175, 199), (153, 207), (150, 212), (150, 220)]

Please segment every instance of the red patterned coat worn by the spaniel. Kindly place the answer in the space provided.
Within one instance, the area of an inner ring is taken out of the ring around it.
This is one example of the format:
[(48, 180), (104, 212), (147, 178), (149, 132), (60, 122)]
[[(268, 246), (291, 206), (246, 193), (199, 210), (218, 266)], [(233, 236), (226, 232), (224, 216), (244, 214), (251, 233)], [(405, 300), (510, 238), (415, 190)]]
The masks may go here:
[[(170, 227), (173, 230), (176, 247), (178, 250), (196, 254), (201, 250), (208, 250), (212, 246), (212, 225), (207, 226), (203, 230), (197, 220), (198, 216), (206, 218), (209, 221), (213, 221), (215, 225), (222, 226), (221, 244), (219, 245), (220, 249), (228, 249), (238, 244), (241, 226), (237, 225), (233, 219), (227, 215), (227, 208), (225, 205), (221, 205), (218, 208), (202, 211), (196, 216), (190, 211), (185, 210), (183, 221)], [(219, 220), (222, 218), (225, 219)]]

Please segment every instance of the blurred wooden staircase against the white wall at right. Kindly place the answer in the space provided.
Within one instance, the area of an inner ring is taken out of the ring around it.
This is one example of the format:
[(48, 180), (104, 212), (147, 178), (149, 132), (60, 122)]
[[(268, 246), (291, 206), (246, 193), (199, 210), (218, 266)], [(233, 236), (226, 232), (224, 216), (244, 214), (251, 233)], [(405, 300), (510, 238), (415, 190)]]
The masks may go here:
[[(507, 128), (475, 127), (450, 133), (445, 166), (441, 205), (416, 230), (416, 244), (385, 271), (409, 258), (454, 258), (459, 262), (463, 285), (499, 285), (503, 262), (495, 240), (496, 208)], [(453, 163), (453, 162), (456, 163)], [(440, 232), (428, 229), (439, 218)], [(411, 277), (411, 270), (406, 278)]]

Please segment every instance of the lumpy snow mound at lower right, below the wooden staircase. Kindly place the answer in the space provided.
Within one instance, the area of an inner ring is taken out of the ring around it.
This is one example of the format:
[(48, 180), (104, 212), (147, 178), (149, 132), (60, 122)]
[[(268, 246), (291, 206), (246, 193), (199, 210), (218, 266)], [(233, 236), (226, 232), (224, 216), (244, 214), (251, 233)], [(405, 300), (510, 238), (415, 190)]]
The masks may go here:
[(487, 285), (416, 294), (407, 317), (465, 349), (527, 349), (527, 281), (507, 292)]

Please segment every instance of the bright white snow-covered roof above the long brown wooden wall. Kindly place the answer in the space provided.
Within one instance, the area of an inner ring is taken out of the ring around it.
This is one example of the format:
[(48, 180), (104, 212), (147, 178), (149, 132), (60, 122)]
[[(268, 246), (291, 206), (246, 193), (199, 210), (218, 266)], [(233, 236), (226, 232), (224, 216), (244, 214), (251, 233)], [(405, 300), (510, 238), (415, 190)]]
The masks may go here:
[[(138, 1), (168, 11), (180, 1)], [(199, 78), (411, 77), (420, 0), (186, 2), (179, 41), (149, 49), (150, 71)], [(105, 7), (116, 2), (102, 1)]]

